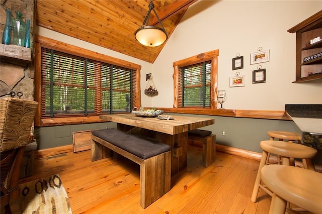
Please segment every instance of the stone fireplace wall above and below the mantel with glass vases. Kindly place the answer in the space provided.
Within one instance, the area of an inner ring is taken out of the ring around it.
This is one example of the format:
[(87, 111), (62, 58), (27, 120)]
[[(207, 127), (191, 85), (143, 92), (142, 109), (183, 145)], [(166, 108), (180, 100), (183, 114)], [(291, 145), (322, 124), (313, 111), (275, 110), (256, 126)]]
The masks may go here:
[[(34, 1), (32, 0), (0, 0), (1, 4), (1, 31), (0, 31), (0, 41), (2, 42), (3, 31), (6, 24), (7, 13), (6, 10), (11, 10), (11, 18), (16, 18), (16, 11), (23, 14), (23, 21), (26, 22), (27, 19), (30, 20), (30, 47), (31, 47), (31, 58), (32, 61), (26, 66), (15, 65), (7, 63), (1, 60), (0, 64), (0, 98), (10, 97), (10, 95), (5, 95), (11, 91), (22, 92), (24, 99), (34, 100)], [(13, 32), (11, 31), (11, 41), (13, 38)], [(17, 97), (17, 95), (15, 96)]]

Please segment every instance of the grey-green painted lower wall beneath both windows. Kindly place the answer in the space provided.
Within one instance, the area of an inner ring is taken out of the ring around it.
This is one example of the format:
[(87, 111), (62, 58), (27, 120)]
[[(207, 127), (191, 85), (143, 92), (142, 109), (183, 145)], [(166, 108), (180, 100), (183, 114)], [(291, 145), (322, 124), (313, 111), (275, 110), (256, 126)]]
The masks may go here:
[[(212, 133), (216, 135), (217, 144), (250, 150), (254, 152), (262, 152), (259, 146), (259, 142), (262, 140), (269, 140), (267, 131), (280, 130), (301, 133), (301, 131), (293, 121), (185, 114), (168, 115), (214, 118), (214, 125), (207, 126), (202, 129), (212, 131)], [(41, 150), (72, 144), (73, 132), (105, 129), (106, 126), (108, 126), (109, 128), (116, 128), (115, 123), (95, 123), (37, 128), (35, 129), (35, 136), (38, 144), (38, 149)], [(225, 136), (222, 136), (222, 131), (225, 131)]]

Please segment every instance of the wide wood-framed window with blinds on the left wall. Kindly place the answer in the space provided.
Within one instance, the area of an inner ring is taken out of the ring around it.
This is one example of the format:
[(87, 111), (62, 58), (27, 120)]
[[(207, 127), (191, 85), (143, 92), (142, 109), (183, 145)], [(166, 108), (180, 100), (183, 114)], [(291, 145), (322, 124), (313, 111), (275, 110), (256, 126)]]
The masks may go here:
[(101, 122), (101, 114), (140, 106), (139, 65), (67, 44), (61, 47), (35, 43), (35, 100), (40, 103), (36, 126)]

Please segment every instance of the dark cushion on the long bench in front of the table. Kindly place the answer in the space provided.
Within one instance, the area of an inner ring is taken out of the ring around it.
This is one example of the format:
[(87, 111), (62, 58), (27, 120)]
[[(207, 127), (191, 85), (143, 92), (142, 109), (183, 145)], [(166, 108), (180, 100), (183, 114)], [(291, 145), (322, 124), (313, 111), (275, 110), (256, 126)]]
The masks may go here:
[(150, 141), (117, 129), (95, 130), (92, 134), (142, 159), (170, 151), (170, 146), (167, 144)]

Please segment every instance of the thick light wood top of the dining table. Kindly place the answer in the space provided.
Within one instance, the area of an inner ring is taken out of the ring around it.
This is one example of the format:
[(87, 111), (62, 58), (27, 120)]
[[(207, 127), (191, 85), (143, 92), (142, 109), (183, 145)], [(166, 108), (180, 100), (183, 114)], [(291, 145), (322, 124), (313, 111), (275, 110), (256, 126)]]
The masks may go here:
[(174, 120), (159, 120), (157, 118), (137, 117), (132, 114), (100, 115), (104, 121), (125, 124), (143, 129), (176, 135), (215, 123), (213, 118), (171, 116)]

